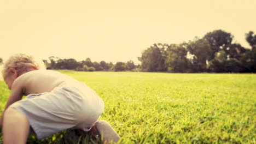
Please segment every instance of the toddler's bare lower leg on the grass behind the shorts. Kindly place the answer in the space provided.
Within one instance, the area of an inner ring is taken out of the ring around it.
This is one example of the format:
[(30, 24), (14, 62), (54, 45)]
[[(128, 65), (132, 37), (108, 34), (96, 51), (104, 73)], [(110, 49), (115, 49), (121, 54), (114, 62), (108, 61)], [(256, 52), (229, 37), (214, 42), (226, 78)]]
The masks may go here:
[(92, 134), (99, 135), (103, 137), (104, 143), (117, 143), (120, 140), (120, 136), (111, 127), (107, 121), (98, 121), (95, 126), (91, 129)]

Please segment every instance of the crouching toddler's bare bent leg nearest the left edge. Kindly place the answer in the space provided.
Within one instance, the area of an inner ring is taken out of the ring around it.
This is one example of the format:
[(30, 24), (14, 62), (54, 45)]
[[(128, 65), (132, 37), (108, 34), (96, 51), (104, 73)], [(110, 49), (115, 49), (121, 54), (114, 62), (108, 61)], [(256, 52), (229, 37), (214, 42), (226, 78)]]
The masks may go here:
[(9, 107), (4, 112), (3, 119), (3, 142), (8, 143), (26, 143), (30, 131), (30, 123), (27, 117)]

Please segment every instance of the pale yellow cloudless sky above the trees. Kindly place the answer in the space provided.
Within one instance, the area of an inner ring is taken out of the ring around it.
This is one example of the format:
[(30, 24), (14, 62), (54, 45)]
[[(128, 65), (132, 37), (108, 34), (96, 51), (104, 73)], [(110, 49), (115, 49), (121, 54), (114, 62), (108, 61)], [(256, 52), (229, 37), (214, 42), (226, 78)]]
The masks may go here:
[(0, 0), (0, 57), (138, 63), (154, 43), (182, 43), (223, 29), (245, 47), (256, 33), (255, 0)]

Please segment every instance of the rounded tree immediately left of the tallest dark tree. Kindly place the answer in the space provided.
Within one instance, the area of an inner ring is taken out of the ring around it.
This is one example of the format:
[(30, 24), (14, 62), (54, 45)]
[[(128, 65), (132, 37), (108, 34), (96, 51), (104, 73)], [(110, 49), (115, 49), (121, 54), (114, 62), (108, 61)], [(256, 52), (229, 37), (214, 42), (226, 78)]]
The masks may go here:
[(211, 46), (205, 39), (190, 41), (187, 49), (193, 55), (192, 64), (194, 72), (204, 72), (207, 70), (206, 61), (211, 56)]

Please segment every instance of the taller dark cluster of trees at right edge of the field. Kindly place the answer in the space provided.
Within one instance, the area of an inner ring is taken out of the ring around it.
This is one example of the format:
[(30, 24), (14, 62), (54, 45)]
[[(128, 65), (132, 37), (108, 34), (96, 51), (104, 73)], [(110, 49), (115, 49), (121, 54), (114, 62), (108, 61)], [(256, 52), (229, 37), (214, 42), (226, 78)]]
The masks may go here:
[(234, 36), (221, 29), (195, 37), (187, 43), (154, 44), (138, 57), (142, 71), (170, 73), (255, 73), (256, 35), (246, 33), (251, 49), (234, 42)]

